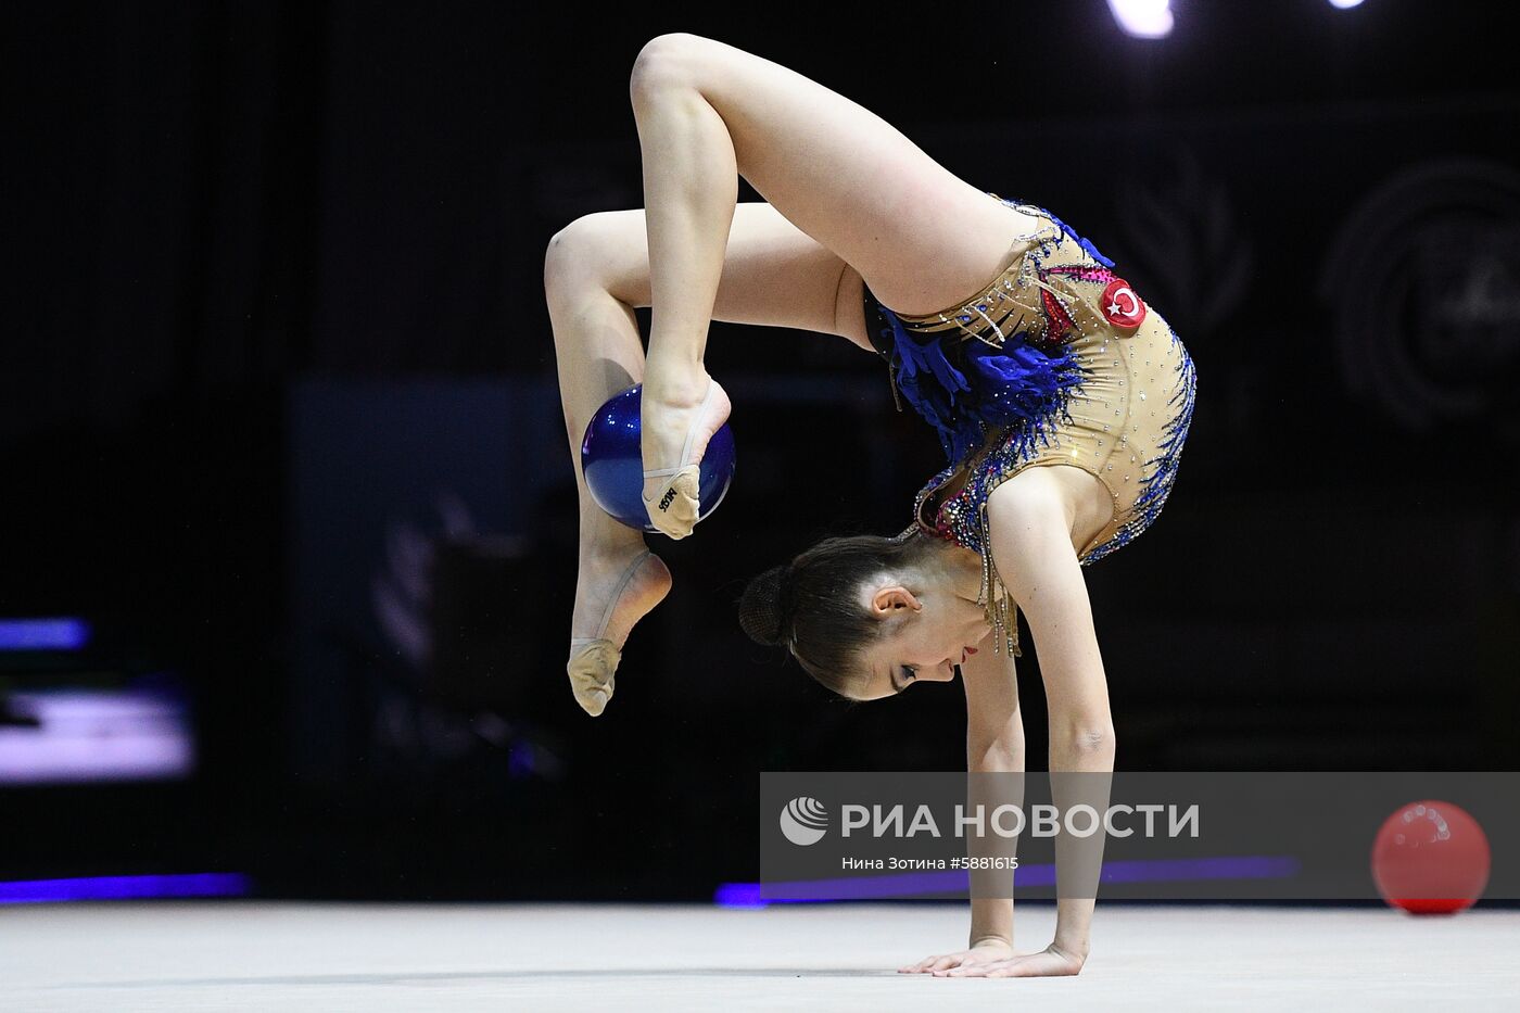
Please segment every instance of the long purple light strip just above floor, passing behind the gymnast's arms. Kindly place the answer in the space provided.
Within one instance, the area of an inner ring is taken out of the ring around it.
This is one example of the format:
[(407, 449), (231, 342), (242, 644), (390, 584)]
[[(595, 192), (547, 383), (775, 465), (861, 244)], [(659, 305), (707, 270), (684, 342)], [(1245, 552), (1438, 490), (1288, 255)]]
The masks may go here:
[[(1102, 882), (1193, 882), (1201, 879), (1287, 879), (1301, 869), (1292, 856), (1239, 855), (1225, 858), (1176, 858), (1117, 861), (1104, 865)], [(1055, 885), (1055, 865), (1020, 865), (1023, 887)], [(793, 882), (725, 882), (713, 902), (725, 908), (763, 908), (768, 903), (816, 903), (822, 900), (883, 900), (932, 893), (959, 893), (970, 885), (965, 872), (904, 873), (900, 876), (853, 876), (800, 879)]]

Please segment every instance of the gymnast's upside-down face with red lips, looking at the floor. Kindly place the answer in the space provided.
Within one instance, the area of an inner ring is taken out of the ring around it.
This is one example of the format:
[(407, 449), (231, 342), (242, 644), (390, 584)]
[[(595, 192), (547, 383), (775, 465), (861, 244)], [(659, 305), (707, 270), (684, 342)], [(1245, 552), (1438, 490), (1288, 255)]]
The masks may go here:
[(980, 605), (947, 587), (898, 583), (866, 589), (866, 610), (891, 624), (865, 651), (866, 675), (857, 700), (882, 700), (915, 683), (948, 683), (956, 668), (976, 654), (990, 628)]

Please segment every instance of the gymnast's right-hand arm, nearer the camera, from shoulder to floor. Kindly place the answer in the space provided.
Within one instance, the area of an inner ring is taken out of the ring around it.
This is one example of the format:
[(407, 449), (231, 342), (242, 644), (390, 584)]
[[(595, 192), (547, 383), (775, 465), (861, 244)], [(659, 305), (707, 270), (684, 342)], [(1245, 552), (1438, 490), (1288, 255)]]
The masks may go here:
[[(1104, 812), (1108, 808), (1108, 777), (1053, 777), (1058, 771), (1113, 774), (1114, 770), (1108, 678), (1097, 649), (1087, 581), (1072, 545), (1072, 516), (1061, 497), (1044, 484), (1017, 488), (1017, 484), (1005, 482), (988, 497), (986, 510), (993, 561), (1008, 593), (1023, 608), (1040, 651), (1050, 712), (1053, 802), (1064, 812), (1075, 802), (1073, 795), (1081, 792), (1081, 802)], [(1102, 835), (1094, 841), (1100, 849)], [(1094, 861), (1091, 847), (1082, 847), (1076, 838), (1056, 838), (1058, 887), (1066, 876), (1073, 881), (1087, 876), (1088, 885), (1079, 890), (1096, 894), (1097, 869), (1075, 865), (1078, 861), (1100, 864), (1102, 852), (1097, 850)], [(1088, 954), (1096, 899), (1061, 896), (1059, 888), (1056, 893), (1055, 942), (1047, 952), (1079, 969)]]

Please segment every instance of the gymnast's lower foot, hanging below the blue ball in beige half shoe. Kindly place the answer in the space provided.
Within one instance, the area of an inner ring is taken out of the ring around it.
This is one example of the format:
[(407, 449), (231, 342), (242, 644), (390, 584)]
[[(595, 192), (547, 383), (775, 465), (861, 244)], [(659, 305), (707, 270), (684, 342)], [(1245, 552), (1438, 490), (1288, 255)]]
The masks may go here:
[(576, 703), (593, 718), (613, 698), (617, 663), (634, 624), (669, 592), (670, 570), (643, 541), (581, 554), (565, 672)]

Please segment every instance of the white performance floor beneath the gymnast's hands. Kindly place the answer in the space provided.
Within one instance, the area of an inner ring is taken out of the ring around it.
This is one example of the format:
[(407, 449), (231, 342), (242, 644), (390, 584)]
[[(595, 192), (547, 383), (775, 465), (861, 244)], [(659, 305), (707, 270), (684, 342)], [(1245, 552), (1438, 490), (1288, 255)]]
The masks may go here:
[[(1018, 945), (1055, 913), (1018, 916)], [(1076, 978), (898, 975), (952, 905), (0, 908), (0, 1010), (1515, 1010), (1520, 911), (1104, 908)]]

